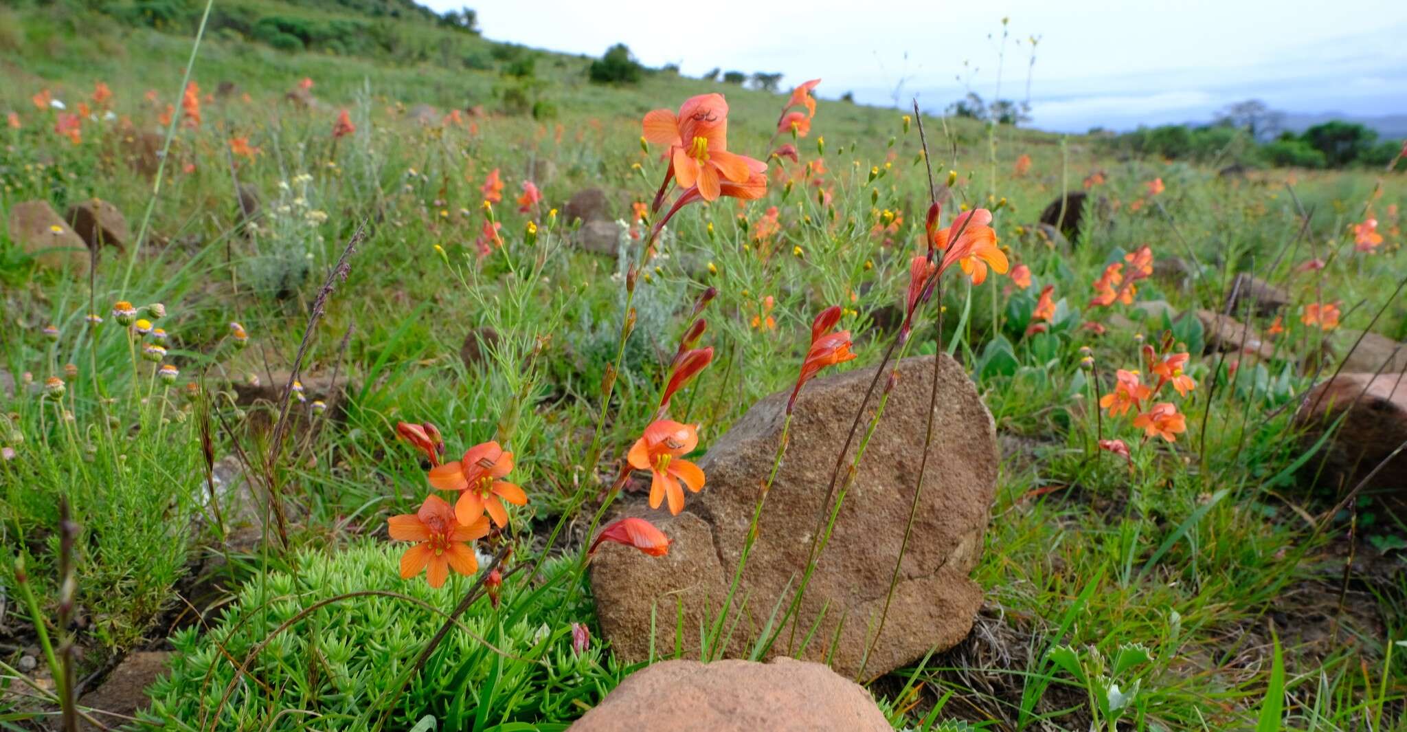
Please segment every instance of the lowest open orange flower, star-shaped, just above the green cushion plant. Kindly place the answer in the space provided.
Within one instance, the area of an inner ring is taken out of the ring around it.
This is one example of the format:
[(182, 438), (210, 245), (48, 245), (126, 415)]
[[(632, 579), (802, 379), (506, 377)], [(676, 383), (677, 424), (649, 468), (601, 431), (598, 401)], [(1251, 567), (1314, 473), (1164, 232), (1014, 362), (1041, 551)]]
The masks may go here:
[(454, 511), (443, 498), (431, 496), (419, 511), (386, 522), (393, 539), (418, 542), (401, 555), (401, 577), (408, 580), (425, 572), (431, 587), (440, 587), (450, 569), (466, 576), (478, 572), (478, 557), (469, 542), (488, 535), (487, 518), (480, 517), (466, 526), (454, 519)]

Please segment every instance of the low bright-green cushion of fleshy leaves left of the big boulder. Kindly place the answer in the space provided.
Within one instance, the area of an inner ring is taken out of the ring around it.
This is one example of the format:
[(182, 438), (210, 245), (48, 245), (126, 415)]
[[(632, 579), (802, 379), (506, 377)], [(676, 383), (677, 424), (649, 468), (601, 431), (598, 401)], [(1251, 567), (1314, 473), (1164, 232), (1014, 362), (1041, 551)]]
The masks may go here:
[[(267, 729), (279, 721), (277, 709), (370, 729), (369, 719), (383, 711), (378, 704), (470, 584), (456, 577), (460, 581), (435, 590), (424, 577), (401, 580), (398, 563), (400, 548), (364, 543), (331, 555), (304, 552), (293, 562), (295, 574), (250, 581), (219, 625), (172, 638), (176, 660), (151, 688), (148, 729), (214, 714), (235, 680), (225, 653), (246, 660), (266, 639), (207, 729)], [(439, 729), (560, 724), (619, 683), (625, 669), (599, 645), (581, 655), (571, 649), (571, 624), (592, 621), (585, 583), (573, 584), (574, 557), (545, 563), (532, 586), (525, 576), (507, 573), (497, 610), (480, 598), (461, 617), (463, 628), (452, 631), (405, 686), (386, 729), (409, 729), (425, 715), (435, 717)], [(398, 597), (349, 597), (304, 615), (315, 602), (363, 591)], [(284, 632), (272, 635), (286, 622)]]

